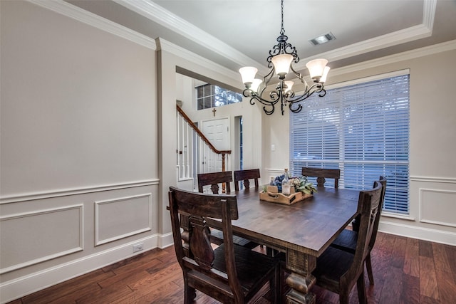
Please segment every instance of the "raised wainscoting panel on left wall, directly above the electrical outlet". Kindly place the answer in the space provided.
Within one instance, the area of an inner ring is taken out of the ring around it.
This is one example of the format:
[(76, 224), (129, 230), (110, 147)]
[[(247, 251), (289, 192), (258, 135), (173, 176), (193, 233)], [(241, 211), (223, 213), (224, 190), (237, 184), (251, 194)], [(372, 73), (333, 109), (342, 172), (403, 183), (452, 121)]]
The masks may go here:
[(152, 230), (152, 194), (95, 201), (95, 246)]

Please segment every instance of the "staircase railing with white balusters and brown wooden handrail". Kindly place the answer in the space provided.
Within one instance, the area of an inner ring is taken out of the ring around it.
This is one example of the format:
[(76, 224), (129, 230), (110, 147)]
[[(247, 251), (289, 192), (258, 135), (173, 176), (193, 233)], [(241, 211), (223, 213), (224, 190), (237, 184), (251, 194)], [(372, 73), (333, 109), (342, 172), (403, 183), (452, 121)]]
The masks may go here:
[(197, 191), (197, 174), (230, 168), (231, 150), (217, 150), (179, 105), (176, 105), (176, 109), (177, 184), (182, 189)]

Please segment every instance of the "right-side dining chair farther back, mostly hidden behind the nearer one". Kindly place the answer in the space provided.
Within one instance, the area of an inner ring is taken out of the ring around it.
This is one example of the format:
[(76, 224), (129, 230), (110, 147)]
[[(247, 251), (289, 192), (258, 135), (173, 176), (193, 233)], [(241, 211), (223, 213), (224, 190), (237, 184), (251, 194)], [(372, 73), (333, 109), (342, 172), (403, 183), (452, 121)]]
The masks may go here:
[[(375, 245), (375, 239), (377, 239), (377, 232), (378, 232), (378, 224), (380, 223), (380, 216), (381, 211), (383, 209), (383, 203), (385, 201), (385, 192), (386, 192), (386, 179), (383, 176), (380, 176), (378, 182), (382, 185), (382, 192), (380, 195), (380, 206), (378, 207), (378, 215), (375, 217), (373, 231), (371, 239), (368, 243), (368, 255), (366, 256), (366, 270), (368, 272), (369, 282), (373, 285), (373, 273), (372, 273), (372, 262), (371, 262), (371, 251), (373, 246)], [(375, 182), (374, 182), (375, 184)], [(331, 243), (331, 246), (334, 248), (341, 249), (343, 251), (347, 251), (349, 253), (354, 254), (356, 251), (356, 243), (358, 242), (358, 231), (359, 231), (359, 224), (361, 219), (355, 223), (356, 229), (349, 230), (343, 229), (341, 234)]]

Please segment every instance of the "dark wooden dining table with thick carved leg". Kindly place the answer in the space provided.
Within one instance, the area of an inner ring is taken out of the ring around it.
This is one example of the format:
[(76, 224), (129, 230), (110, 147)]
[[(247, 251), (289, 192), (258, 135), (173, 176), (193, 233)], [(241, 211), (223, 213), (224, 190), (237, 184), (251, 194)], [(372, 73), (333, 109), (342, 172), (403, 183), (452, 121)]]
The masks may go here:
[[(284, 253), (286, 303), (315, 303), (309, 290), (316, 283), (316, 258), (358, 214), (359, 191), (318, 187), (314, 196), (291, 205), (262, 201), (259, 191), (235, 192), (239, 219), (232, 221), (233, 234)], [(219, 228), (217, 220), (207, 224)]]

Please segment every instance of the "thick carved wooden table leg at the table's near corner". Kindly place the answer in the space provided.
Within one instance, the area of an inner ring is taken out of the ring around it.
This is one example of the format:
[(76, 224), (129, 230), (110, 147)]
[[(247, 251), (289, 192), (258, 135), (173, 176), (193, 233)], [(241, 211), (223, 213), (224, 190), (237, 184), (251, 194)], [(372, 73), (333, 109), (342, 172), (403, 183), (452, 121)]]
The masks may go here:
[(309, 290), (316, 281), (311, 273), (316, 268), (316, 257), (289, 250), (286, 252), (286, 268), (291, 271), (286, 278), (286, 284), (291, 288), (286, 294), (286, 303), (314, 304), (315, 295)]

